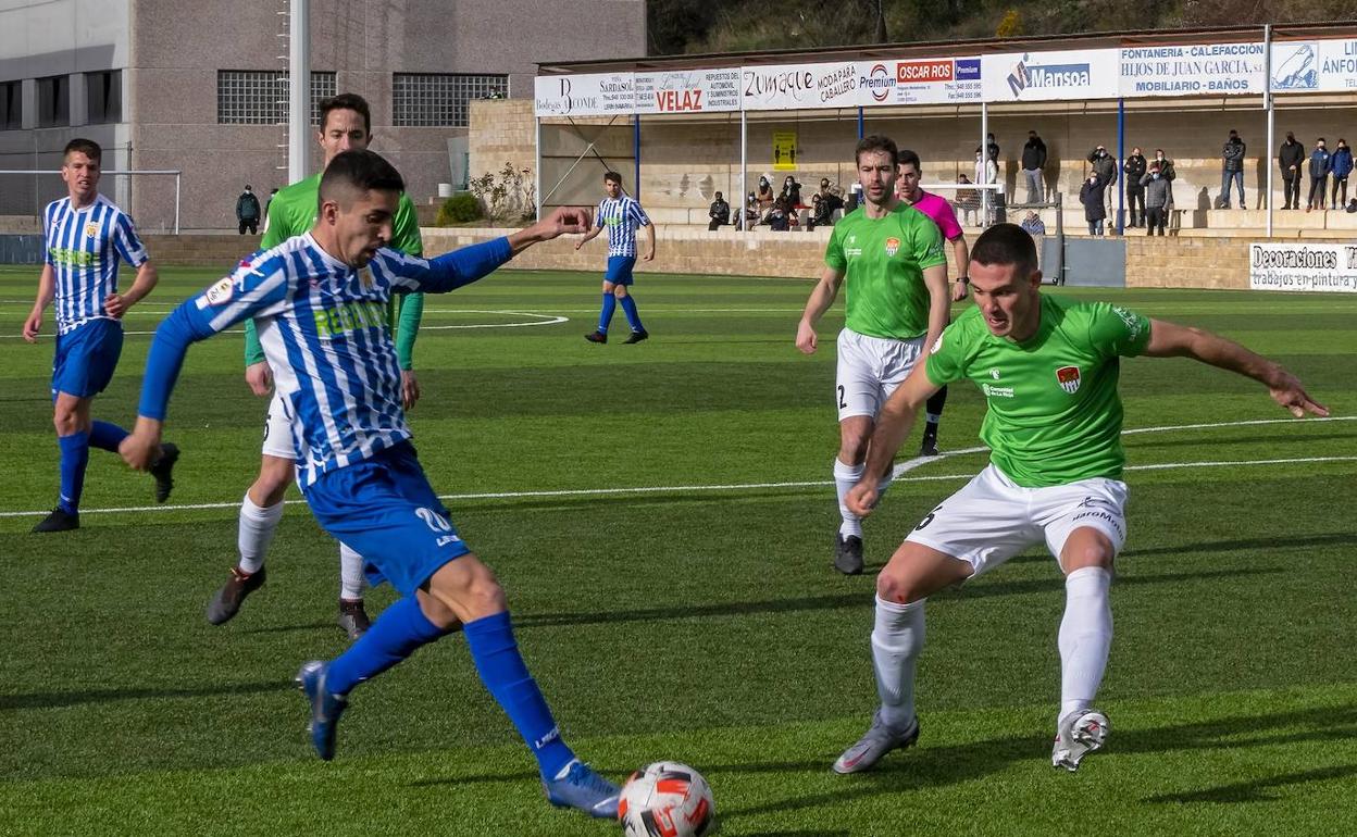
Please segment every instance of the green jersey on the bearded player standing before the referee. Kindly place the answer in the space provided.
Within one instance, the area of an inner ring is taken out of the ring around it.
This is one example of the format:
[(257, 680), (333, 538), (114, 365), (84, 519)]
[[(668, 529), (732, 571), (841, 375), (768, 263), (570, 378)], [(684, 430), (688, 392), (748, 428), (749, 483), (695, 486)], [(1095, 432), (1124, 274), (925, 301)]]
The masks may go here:
[(902, 203), (883, 218), (855, 209), (835, 224), (825, 250), (825, 265), (844, 274), (844, 324), (896, 340), (928, 334), (924, 269), (946, 263), (938, 225)]

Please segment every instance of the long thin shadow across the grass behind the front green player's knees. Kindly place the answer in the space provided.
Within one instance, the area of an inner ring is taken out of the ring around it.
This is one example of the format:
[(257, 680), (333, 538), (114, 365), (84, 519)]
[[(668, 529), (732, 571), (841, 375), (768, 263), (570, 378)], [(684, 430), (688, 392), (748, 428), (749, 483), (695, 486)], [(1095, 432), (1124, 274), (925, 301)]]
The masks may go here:
[[(1205, 570), (1198, 572), (1158, 572), (1153, 575), (1125, 575), (1117, 579), (1121, 586), (1174, 585), (1186, 581), (1238, 579), (1250, 575), (1274, 575), (1284, 572), (1280, 567), (1251, 567), (1242, 570)], [(1004, 596), (1025, 596), (1029, 593), (1054, 593), (1065, 589), (1065, 579), (1053, 572), (1050, 578), (1022, 581), (978, 581), (963, 587), (949, 587), (932, 601), (947, 600), (965, 602), (973, 598), (995, 598)], [(754, 613), (801, 613), (806, 610), (837, 610), (844, 608), (873, 606), (871, 591), (856, 590), (835, 596), (807, 596), (801, 598), (771, 598), (763, 601), (734, 601), (712, 605), (680, 604), (666, 608), (638, 608), (632, 610), (588, 610), (581, 613), (524, 613), (514, 617), (520, 628), (550, 628), (563, 625), (601, 625), (634, 621), (668, 621), (673, 619), (716, 619), (727, 616), (749, 616)]]

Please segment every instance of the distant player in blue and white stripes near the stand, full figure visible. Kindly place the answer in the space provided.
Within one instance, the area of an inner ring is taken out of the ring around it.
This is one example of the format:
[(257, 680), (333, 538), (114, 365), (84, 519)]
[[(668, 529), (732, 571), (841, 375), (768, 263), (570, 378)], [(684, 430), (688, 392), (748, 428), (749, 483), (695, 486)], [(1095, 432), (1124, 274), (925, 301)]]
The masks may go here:
[(598, 213), (594, 217), (594, 227), (584, 239), (575, 243), (575, 250), (585, 246), (608, 228), (608, 273), (603, 277), (603, 311), (598, 312), (598, 328), (585, 335), (590, 343), (608, 342), (608, 324), (612, 323), (612, 313), (617, 304), (627, 313), (627, 324), (631, 326), (631, 336), (627, 343), (639, 343), (650, 336), (645, 326), (641, 324), (641, 315), (636, 313), (636, 301), (627, 292), (631, 285), (631, 269), (636, 266), (636, 229), (646, 231), (645, 260), (655, 258), (655, 225), (650, 222), (646, 210), (641, 203), (628, 195), (622, 194), (622, 175), (609, 171), (603, 176), (603, 189), (608, 197), (598, 202)]

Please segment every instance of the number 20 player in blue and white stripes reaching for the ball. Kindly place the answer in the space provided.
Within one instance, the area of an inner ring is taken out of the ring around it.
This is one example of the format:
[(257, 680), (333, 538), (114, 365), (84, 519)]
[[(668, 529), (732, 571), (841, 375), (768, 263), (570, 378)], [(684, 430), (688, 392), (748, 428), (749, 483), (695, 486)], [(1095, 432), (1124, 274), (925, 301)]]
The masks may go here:
[(547, 798), (616, 818), (617, 788), (562, 741), (518, 654), (503, 590), (457, 534), (415, 457), (385, 313), (395, 293), (453, 290), (536, 241), (585, 232), (588, 213), (558, 209), (508, 237), (425, 260), (384, 247), (403, 189), (379, 155), (337, 155), (320, 178), (309, 233), (251, 256), (178, 307), (156, 330), (123, 459), (147, 467), (189, 343), (254, 317), (293, 422), (297, 484), (312, 514), (366, 559), (369, 581), (402, 593), (338, 658), (301, 667), (316, 753), (334, 757), (354, 686), (461, 628), (482, 682), (536, 757)]

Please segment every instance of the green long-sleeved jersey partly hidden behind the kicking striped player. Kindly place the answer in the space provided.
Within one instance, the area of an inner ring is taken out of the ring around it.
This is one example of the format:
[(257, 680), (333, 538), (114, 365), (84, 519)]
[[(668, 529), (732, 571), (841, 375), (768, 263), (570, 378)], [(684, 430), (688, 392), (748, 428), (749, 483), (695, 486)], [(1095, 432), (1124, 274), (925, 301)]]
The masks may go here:
[[(282, 189), (273, 195), (269, 203), (269, 217), (265, 218), (263, 241), (259, 247), (269, 250), (282, 244), (292, 236), (300, 236), (309, 231), (316, 222), (316, 210), (320, 199), (320, 175), (312, 175), (305, 180), (297, 180), (292, 186)], [(415, 217), (414, 203), (404, 194), (400, 195), (400, 206), (392, 220), (391, 247), (411, 256), (423, 255), (423, 243), (419, 239), (419, 221)], [(392, 300), (392, 309), (388, 313), (391, 326), (396, 332), (396, 359), (400, 368), (410, 370), (415, 350), (415, 334), (419, 331), (419, 319), (423, 316), (423, 294), (411, 293), (396, 296)], [(399, 323), (396, 312), (399, 311)], [(246, 320), (246, 366), (263, 362), (263, 347), (259, 346), (259, 334), (254, 320)]]

